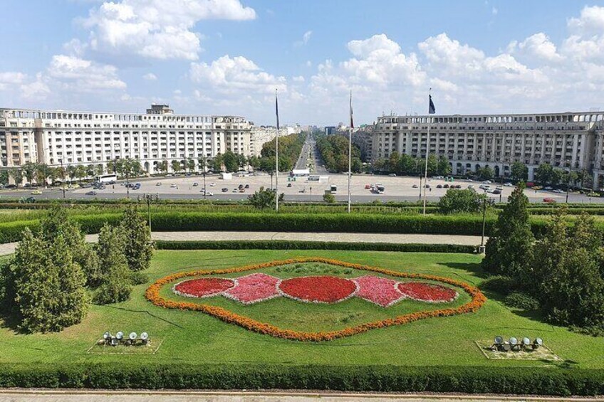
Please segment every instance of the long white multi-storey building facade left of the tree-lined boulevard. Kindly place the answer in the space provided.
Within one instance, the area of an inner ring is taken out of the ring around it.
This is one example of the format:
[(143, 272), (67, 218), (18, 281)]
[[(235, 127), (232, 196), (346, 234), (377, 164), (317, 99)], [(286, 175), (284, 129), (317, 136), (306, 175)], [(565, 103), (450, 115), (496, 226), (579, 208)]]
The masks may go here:
[[(148, 173), (162, 161), (250, 155), (251, 124), (238, 116), (0, 109), (0, 166), (103, 164), (138, 159)], [(171, 168), (170, 168), (171, 169)]]

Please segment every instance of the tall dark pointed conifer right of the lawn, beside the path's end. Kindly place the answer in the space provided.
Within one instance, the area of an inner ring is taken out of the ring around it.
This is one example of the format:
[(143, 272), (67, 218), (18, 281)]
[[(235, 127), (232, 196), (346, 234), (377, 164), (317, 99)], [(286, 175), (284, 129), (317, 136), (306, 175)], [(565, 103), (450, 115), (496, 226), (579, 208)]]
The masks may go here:
[(524, 188), (524, 183), (520, 182), (499, 213), (494, 232), (486, 242), (482, 266), (490, 273), (531, 280), (535, 238), (529, 223), (529, 199), (524, 195)]

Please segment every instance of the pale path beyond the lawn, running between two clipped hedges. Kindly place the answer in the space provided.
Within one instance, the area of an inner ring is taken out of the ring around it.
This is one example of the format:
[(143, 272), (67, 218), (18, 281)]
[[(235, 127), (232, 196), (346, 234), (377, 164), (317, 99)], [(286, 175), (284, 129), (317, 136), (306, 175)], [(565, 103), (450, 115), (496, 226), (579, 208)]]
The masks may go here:
[[(399, 235), (386, 233), (297, 233), (297, 232), (153, 232), (153, 240), (303, 240), (352, 243), (422, 243), (479, 245), (480, 236)], [(95, 242), (98, 235), (87, 235)], [(12, 254), (16, 243), (0, 244), (0, 255)]]

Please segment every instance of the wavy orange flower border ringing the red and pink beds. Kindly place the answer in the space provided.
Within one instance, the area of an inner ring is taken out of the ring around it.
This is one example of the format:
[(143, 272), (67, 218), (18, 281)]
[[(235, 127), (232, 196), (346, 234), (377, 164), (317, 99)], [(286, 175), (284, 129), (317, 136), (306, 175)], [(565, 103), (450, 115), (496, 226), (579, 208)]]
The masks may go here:
[[(196, 276), (196, 275), (220, 275), (220, 274), (228, 274), (228, 273), (241, 273), (249, 270), (259, 270), (262, 268), (270, 268), (277, 267), (279, 265), (288, 265), (295, 263), (326, 263), (330, 265), (338, 265), (344, 268), (354, 268), (356, 270), (366, 270), (375, 273), (382, 273), (385, 275), (390, 275), (394, 277), (406, 277), (412, 279), (425, 279), (425, 280), (434, 280), (437, 282), (448, 283), (449, 285), (454, 285), (457, 287), (461, 287), (468, 295), (472, 297), (472, 301), (467, 302), (465, 305), (459, 306), (457, 308), (449, 308), (449, 309), (440, 309), (440, 310), (432, 310), (426, 312), (414, 312), (410, 314), (403, 314), (395, 318), (390, 319), (382, 319), (380, 321), (368, 322), (365, 324), (356, 325), (355, 327), (348, 327), (345, 329), (340, 329), (338, 331), (330, 331), (330, 332), (302, 332), (295, 331), (293, 329), (281, 329), (276, 327), (275, 325), (266, 324), (265, 322), (256, 321), (255, 319), (251, 319), (249, 317), (245, 317), (240, 314), (236, 314), (234, 312), (230, 312), (222, 307), (210, 306), (197, 304), (192, 302), (175, 302), (172, 300), (165, 299), (160, 296), (160, 289), (162, 286), (167, 283), (178, 280), (182, 277)], [(486, 297), (482, 294), (482, 292), (472, 285), (468, 285), (465, 282), (461, 282), (458, 280), (449, 279), (448, 277), (439, 277), (435, 275), (423, 275), (423, 274), (415, 274), (415, 273), (398, 273), (392, 270), (385, 270), (383, 268), (371, 267), (369, 265), (360, 265), (354, 263), (346, 263), (340, 260), (331, 260), (329, 258), (292, 258), (288, 260), (274, 260), (270, 263), (262, 263), (256, 265), (244, 265), (242, 267), (236, 268), (227, 268), (221, 270), (194, 270), (188, 271), (184, 273), (177, 273), (173, 275), (168, 275), (166, 277), (162, 277), (153, 283), (150, 287), (147, 288), (145, 292), (145, 297), (147, 300), (152, 302), (154, 305), (159, 307), (164, 307), (168, 309), (179, 309), (179, 310), (193, 310), (204, 312), (206, 314), (217, 317), (218, 319), (222, 319), (224, 322), (228, 322), (229, 324), (236, 324), (239, 327), (243, 327), (245, 329), (249, 329), (250, 331), (258, 332), (259, 334), (267, 334), (271, 335), (271, 337), (282, 338), (282, 339), (291, 339), (296, 341), (313, 341), (313, 342), (321, 342), (321, 341), (330, 341), (333, 339), (350, 337), (355, 334), (360, 334), (363, 332), (368, 332), (370, 329), (377, 328), (385, 328), (392, 327), (393, 325), (402, 325), (408, 324), (410, 322), (419, 321), (420, 319), (427, 319), (431, 317), (450, 317), (452, 315), (457, 314), (466, 314), (469, 312), (476, 312), (480, 307), (484, 305), (486, 302)]]

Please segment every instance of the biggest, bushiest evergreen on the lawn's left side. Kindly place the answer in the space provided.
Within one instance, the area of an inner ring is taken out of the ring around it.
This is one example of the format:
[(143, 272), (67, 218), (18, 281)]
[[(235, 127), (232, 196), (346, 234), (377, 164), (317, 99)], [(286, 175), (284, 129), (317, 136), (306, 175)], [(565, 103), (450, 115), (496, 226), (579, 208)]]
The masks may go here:
[(26, 228), (11, 271), (19, 329), (61, 331), (85, 317), (90, 301), (85, 276), (63, 236), (49, 242)]

